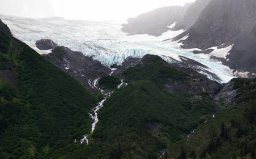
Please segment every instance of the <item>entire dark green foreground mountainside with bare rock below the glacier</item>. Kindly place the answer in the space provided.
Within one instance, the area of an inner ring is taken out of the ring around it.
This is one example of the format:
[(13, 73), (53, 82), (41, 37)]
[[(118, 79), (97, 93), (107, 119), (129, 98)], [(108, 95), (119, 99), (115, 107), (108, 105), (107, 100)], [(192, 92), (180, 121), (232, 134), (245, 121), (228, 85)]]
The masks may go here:
[[(129, 58), (109, 73), (51, 40), (36, 42), (52, 49), (40, 56), (0, 24), (2, 158), (255, 158), (255, 79), (220, 84), (158, 55)], [(96, 78), (94, 96), (67, 73), (85, 87)], [(127, 85), (117, 88), (120, 78)], [(92, 132), (88, 113), (99, 105)]]

